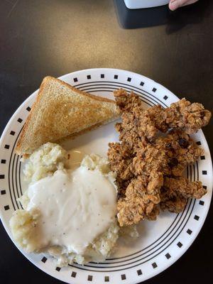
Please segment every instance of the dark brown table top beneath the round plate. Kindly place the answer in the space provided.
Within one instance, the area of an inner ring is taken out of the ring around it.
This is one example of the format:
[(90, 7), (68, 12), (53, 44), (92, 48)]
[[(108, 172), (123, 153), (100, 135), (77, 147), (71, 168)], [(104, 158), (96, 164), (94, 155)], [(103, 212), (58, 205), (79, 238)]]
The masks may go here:
[[(213, 107), (213, 1), (171, 12), (167, 6), (129, 10), (123, 0), (2, 0), (0, 104), (4, 130), (45, 75), (111, 67), (140, 73), (178, 97)], [(204, 129), (212, 151), (213, 122)], [(209, 282), (213, 209), (188, 251), (146, 283)], [(62, 283), (33, 266), (0, 224), (2, 283)], [(24, 276), (23, 276), (24, 273)]]

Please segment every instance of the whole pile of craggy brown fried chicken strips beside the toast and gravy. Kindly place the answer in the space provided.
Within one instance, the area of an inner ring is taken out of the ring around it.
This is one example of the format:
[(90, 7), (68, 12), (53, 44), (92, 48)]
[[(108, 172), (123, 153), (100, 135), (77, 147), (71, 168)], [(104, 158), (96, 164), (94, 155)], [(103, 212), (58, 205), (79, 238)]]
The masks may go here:
[[(185, 99), (167, 109), (144, 110), (136, 94), (119, 89), (114, 96), (122, 113), (116, 124), (121, 143), (109, 143), (108, 157), (119, 187), (119, 224), (156, 219), (160, 208), (181, 212), (187, 198), (206, 192), (201, 182), (188, 181), (182, 172), (203, 153), (188, 133), (206, 125), (211, 113)], [(159, 136), (160, 131), (166, 134)]]

